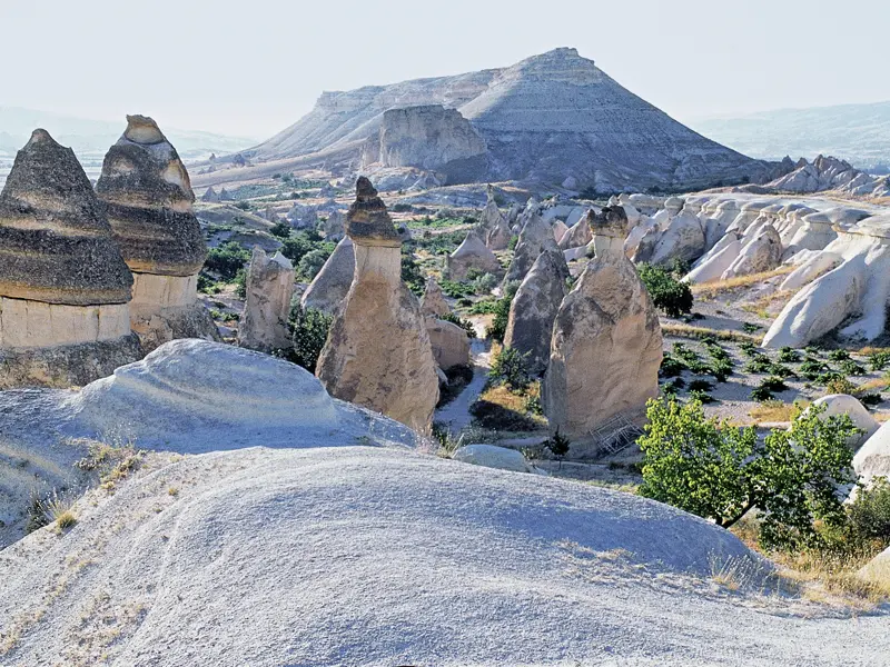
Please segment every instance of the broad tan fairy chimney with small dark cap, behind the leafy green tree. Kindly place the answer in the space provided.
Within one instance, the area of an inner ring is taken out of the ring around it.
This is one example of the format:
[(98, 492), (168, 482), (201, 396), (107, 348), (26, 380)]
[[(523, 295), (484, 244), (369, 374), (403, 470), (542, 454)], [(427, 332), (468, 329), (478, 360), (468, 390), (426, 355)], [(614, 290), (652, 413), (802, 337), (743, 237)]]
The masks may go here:
[(623, 251), (626, 213), (604, 208), (592, 221), (603, 242), (553, 325), (542, 402), (551, 430), (573, 441), (571, 455), (595, 454), (595, 432), (615, 418), (639, 419), (659, 392), (659, 315)]

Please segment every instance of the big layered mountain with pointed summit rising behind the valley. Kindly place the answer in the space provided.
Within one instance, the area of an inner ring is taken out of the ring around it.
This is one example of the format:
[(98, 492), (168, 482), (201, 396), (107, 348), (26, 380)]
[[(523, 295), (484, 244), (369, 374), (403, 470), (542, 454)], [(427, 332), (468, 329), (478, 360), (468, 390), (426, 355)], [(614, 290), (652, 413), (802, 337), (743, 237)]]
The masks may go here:
[[(457, 109), (469, 128), (459, 118), (435, 112), (434, 104)], [(393, 149), (386, 142), (394, 128), (386, 127), (385, 112), (395, 108), (417, 112), (407, 113), (395, 128), (399, 146)], [(451, 141), (443, 136), (448, 131), (462, 137)], [(478, 145), (469, 132), (485, 146), (482, 172), (478, 152), (465, 156), (464, 162), (472, 159), (474, 180), (564, 183), (614, 192), (763, 182), (781, 171), (690, 130), (621, 87), (575, 49), (563, 48), (503, 69), (324, 92), (295, 125), (234, 156), (239, 166), (249, 160), (246, 168), (226, 173), (217, 162), (216, 171), (199, 178), (204, 185), (221, 183), (279, 166), (318, 166), (348, 173), (373, 170), (378, 158), (380, 167), (435, 171), (437, 167), (429, 163), (435, 155), (419, 155), (417, 147), (428, 141), (434, 153), (453, 156), (456, 147)], [(400, 150), (404, 147), (411, 149)], [(394, 155), (411, 155), (422, 163), (386, 161)]]

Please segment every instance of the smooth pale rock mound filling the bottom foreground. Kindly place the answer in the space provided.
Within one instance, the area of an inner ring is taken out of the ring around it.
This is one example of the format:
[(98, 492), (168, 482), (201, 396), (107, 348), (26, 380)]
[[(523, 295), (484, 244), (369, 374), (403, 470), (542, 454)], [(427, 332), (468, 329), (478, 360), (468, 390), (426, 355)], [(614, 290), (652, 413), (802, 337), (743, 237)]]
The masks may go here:
[(627, 494), (374, 447), (151, 457), (0, 551), (0, 664), (887, 665), (886, 615), (721, 587), (750, 552)]

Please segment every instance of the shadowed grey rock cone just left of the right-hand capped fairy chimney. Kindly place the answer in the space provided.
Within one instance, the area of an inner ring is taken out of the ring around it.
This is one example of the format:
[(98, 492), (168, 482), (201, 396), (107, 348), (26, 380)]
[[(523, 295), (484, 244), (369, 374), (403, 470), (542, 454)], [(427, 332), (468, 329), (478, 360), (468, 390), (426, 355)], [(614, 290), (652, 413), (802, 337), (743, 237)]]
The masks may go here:
[(565, 296), (568, 267), (562, 252), (542, 252), (510, 305), (504, 347), (528, 355), (528, 370), (542, 375), (550, 362), (553, 320)]

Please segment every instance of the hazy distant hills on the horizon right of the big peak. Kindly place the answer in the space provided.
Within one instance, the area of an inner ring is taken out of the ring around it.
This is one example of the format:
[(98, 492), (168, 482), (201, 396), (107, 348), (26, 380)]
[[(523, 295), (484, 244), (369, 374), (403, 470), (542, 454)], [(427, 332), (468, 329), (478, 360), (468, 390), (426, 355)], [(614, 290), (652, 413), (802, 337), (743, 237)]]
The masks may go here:
[(830, 155), (863, 170), (886, 173), (890, 168), (890, 102), (779, 109), (691, 125), (755, 158)]

